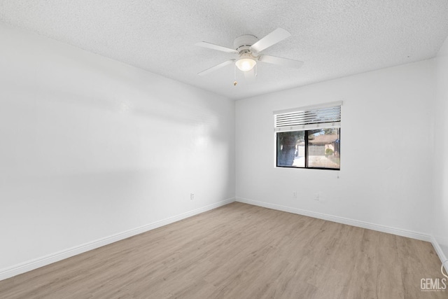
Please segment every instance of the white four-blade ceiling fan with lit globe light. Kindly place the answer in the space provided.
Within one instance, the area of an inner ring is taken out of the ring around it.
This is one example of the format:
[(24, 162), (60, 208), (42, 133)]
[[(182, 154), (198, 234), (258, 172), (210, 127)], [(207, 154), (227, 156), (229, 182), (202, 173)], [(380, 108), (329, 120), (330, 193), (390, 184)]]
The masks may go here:
[(212, 71), (216, 71), (216, 69), (221, 69), (221, 67), (225, 67), (226, 65), (233, 63), (235, 63), (235, 66), (240, 71), (244, 72), (251, 71), (251, 69), (255, 67), (257, 62), (267, 62), (270, 64), (278, 64), (283, 67), (293, 67), (298, 69), (299, 67), (302, 67), (303, 62), (298, 60), (290, 60), (288, 58), (260, 54), (262, 50), (265, 50), (266, 48), (269, 48), (270, 46), (283, 41), (283, 39), (286, 39), (289, 36), (291, 36), (291, 34), (282, 28), (275, 29), (273, 32), (267, 34), (267, 36), (263, 37), (262, 39), (258, 39), (256, 36), (250, 34), (245, 34), (235, 39), (235, 41), (233, 42), (233, 47), (235, 49), (218, 46), (214, 43), (207, 43), (206, 41), (195, 43), (196, 46), (238, 55), (234, 59), (216, 64), (214, 67), (205, 69), (204, 71), (201, 71), (197, 74), (200, 76), (204, 76), (211, 73)]

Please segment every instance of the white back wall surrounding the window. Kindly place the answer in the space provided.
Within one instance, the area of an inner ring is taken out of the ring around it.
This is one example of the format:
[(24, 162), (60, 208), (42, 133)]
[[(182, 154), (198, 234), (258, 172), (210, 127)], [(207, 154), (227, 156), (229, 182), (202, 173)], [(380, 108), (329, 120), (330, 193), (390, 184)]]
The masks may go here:
[[(428, 239), (434, 88), (428, 60), (237, 101), (237, 200)], [(341, 170), (274, 167), (272, 111), (341, 100)]]

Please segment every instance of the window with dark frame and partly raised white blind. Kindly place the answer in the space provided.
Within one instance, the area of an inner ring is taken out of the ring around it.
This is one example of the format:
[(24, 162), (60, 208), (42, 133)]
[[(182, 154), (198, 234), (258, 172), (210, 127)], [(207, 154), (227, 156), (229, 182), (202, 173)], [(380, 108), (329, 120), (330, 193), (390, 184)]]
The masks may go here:
[(275, 111), (276, 167), (340, 169), (341, 105)]

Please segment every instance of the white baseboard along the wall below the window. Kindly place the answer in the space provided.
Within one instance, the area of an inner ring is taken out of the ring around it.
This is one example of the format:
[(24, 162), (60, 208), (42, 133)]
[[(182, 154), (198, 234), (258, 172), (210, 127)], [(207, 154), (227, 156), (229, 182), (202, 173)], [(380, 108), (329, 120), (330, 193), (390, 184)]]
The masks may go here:
[(328, 215), (328, 214), (318, 213), (318, 212), (314, 212), (314, 211), (307, 211), (304, 209), (297, 209), (297, 208), (293, 208), (293, 207), (285, 207), (285, 206), (281, 206), (279, 204), (269, 204), (267, 202), (259, 202), (257, 200), (248, 200), (246, 198), (241, 198), (241, 197), (237, 197), (236, 201), (243, 202), (246, 204), (253, 204), (253, 205), (259, 206), (259, 207), (276, 209), (279, 211), (287, 211), (287, 212), (293, 213), (293, 214), (309, 216), (309, 217), (328, 220), (328, 221), (332, 221), (332, 222), (353, 225), (353, 226), (357, 226), (359, 228), (367, 228), (369, 230), (377, 230), (379, 232), (387, 232), (387, 233), (393, 234), (393, 235), (399, 235), (402, 237), (409, 237), (412, 239), (419, 239), (419, 240), (431, 242), (430, 235), (426, 235), (421, 232), (414, 232), (412, 230), (403, 230), (401, 228), (391, 228), (386, 225), (379, 225), (379, 224), (369, 223), (369, 222), (365, 222), (365, 221), (353, 220), (350, 218), (332, 216), (332, 215)]

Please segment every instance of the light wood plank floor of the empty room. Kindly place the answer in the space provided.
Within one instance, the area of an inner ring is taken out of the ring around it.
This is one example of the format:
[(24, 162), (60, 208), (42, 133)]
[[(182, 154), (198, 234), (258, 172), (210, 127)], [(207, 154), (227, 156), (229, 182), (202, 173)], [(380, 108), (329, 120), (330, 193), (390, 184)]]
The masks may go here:
[(0, 281), (0, 298), (448, 298), (430, 243), (232, 203)]

